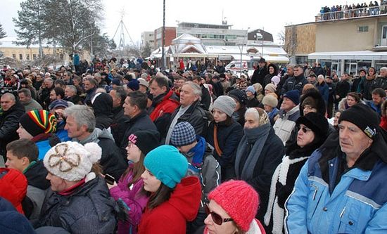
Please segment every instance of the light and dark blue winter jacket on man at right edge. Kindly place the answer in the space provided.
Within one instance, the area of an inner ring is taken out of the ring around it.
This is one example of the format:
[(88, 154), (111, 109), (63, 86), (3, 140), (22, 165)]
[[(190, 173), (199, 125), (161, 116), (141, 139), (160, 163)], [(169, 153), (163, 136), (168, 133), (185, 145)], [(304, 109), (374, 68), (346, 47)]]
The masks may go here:
[(321, 157), (313, 152), (286, 201), (286, 233), (387, 233), (387, 164), (347, 170), (335, 187), (340, 156), (328, 160), (329, 183)]

